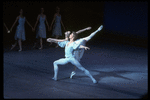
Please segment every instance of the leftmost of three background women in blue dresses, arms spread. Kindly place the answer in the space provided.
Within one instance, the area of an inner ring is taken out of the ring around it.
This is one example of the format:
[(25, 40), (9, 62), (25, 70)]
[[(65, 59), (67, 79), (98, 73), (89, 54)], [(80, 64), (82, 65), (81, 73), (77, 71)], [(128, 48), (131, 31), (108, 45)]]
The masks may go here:
[[(17, 26), (17, 30), (15, 33), (15, 40), (18, 40), (18, 44), (19, 44), (19, 48), (20, 48), (19, 51), (22, 51), (21, 40), (22, 41), (26, 40), (26, 38), (25, 38), (25, 27), (24, 27), (25, 21), (32, 28), (32, 30), (33, 30), (33, 27), (30, 25), (30, 23), (27, 21), (27, 19), (23, 16), (23, 10), (22, 9), (20, 10), (20, 15), (16, 18), (14, 24), (12, 25), (12, 27), (10, 29), (11, 32), (12, 32), (12, 29), (13, 29), (13, 27), (17, 21), (18, 21), (19, 25)], [(17, 45), (17, 41), (15, 42), (14, 45), (12, 45), (10, 50), (12, 50), (16, 45)]]

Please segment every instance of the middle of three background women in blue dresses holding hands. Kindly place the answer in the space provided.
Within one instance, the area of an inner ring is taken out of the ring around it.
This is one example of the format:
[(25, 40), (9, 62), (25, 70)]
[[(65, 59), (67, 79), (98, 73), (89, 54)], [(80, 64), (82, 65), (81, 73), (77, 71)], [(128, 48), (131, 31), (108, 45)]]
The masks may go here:
[[(44, 23), (45, 21), (46, 21), (46, 24), (47, 24), (48, 30), (49, 30), (49, 25), (47, 22), (46, 15), (44, 15), (43, 13), (44, 13), (44, 8), (41, 8), (41, 14), (38, 15), (37, 21), (34, 26), (34, 30), (35, 30), (35, 27), (36, 27), (38, 21), (40, 22), (37, 27), (37, 35), (36, 35), (36, 38), (40, 38), (40, 46), (41, 47), (39, 49), (43, 48), (42, 38), (46, 38), (46, 27), (45, 27), (45, 23)], [(36, 46), (36, 44), (37, 44), (37, 42), (34, 44), (33, 48)]]

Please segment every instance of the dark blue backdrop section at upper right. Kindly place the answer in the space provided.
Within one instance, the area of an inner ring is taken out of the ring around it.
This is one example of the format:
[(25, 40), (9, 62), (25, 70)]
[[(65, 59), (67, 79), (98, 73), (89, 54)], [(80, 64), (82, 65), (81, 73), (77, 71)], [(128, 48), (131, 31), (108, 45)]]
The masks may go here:
[(104, 12), (105, 29), (114, 34), (147, 37), (147, 2), (106, 2)]

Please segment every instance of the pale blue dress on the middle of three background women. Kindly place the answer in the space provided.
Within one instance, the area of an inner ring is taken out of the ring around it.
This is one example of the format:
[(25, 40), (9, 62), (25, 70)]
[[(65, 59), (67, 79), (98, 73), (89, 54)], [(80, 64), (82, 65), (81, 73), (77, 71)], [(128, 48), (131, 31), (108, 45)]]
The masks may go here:
[(39, 24), (37, 26), (37, 34), (36, 34), (36, 38), (46, 38), (46, 27), (45, 27), (45, 17), (41, 17), (39, 19)]

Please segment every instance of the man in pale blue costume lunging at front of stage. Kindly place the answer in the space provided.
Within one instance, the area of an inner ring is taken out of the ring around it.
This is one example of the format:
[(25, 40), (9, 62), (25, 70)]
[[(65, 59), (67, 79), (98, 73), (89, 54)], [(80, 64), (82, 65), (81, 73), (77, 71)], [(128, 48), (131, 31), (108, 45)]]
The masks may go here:
[(55, 43), (58, 43), (58, 45), (62, 48), (65, 47), (65, 58), (61, 58), (59, 60), (54, 61), (54, 79), (55, 81), (57, 80), (57, 74), (58, 74), (58, 65), (65, 65), (67, 63), (72, 63), (75, 65), (78, 69), (83, 71), (88, 77), (90, 77), (93, 81), (93, 83), (97, 83), (97, 81), (93, 78), (93, 76), (90, 74), (90, 72), (85, 69), (79, 62), (74, 58), (73, 51), (78, 49), (78, 48), (84, 48), (85, 50), (88, 50), (88, 47), (82, 46), (80, 44), (76, 44), (75, 40), (77, 38), (77, 34), (75, 32), (72, 32), (71, 35), (69, 36), (70, 41), (64, 41), (64, 42), (57, 42), (57, 41), (52, 41)]

